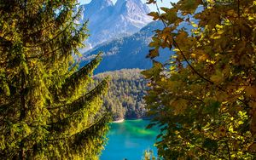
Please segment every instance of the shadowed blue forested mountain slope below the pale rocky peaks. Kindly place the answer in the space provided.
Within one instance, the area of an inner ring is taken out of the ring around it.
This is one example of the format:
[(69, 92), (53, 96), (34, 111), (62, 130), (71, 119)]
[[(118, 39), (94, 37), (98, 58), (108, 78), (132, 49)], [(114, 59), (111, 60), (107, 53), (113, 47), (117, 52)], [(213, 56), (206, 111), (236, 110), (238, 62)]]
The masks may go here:
[[(146, 59), (149, 50), (148, 43), (154, 35), (154, 30), (162, 27), (163, 24), (160, 21), (154, 21), (131, 36), (119, 37), (111, 42), (102, 43), (84, 53), (80, 66), (87, 64), (96, 54), (102, 51), (103, 60), (96, 68), (96, 73), (123, 68), (147, 69), (152, 66), (152, 61)], [(167, 60), (167, 56), (170, 56), (170, 51), (162, 50), (158, 60)]]

